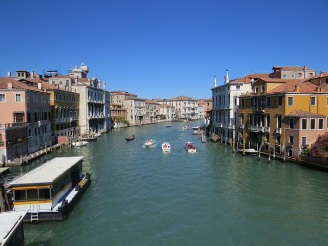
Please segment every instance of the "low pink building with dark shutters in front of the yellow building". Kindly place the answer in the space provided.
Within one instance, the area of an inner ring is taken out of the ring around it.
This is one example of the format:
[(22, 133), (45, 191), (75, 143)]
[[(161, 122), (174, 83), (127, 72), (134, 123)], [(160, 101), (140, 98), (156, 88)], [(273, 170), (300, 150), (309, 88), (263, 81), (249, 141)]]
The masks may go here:
[(286, 155), (297, 157), (302, 147), (311, 146), (318, 135), (325, 134), (327, 117), (303, 110), (293, 110), (285, 115)]

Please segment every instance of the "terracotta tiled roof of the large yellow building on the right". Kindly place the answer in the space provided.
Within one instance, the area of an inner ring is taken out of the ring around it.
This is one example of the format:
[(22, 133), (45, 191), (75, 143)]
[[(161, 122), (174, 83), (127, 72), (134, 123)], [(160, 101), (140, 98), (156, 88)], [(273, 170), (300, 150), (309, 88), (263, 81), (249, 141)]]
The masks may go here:
[[(285, 83), (267, 92), (267, 94), (278, 92), (296, 92), (296, 85), (300, 85), (300, 92), (318, 92), (317, 85), (312, 84), (309, 81), (300, 82), (297, 79), (286, 79)], [(322, 88), (322, 92), (328, 92), (328, 90)]]

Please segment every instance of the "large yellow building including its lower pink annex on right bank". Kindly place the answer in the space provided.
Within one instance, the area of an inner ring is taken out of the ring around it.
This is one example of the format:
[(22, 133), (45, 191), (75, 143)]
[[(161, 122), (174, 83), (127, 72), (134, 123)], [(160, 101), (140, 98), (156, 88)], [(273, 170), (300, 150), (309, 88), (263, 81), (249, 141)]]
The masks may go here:
[(328, 130), (328, 90), (310, 81), (261, 78), (239, 100), (238, 138), (246, 148), (298, 156)]

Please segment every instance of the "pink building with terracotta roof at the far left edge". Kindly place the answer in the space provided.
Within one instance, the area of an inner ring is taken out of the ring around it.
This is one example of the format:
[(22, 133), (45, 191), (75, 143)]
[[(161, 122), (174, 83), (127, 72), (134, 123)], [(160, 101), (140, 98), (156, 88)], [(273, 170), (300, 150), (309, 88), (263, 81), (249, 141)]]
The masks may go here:
[(0, 110), (1, 162), (50, 146), (49, 93), (10, 77), (0, 77)]

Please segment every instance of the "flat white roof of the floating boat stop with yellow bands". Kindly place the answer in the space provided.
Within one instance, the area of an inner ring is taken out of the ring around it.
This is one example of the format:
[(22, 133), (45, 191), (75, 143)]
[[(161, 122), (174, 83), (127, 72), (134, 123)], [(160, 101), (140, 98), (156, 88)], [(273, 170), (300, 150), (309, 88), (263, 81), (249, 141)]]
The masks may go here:
[(73, 167), (83, 156), (56, 157), (37, 168), (19, 176), (8, 186), (51, 185), (58, 177)]

